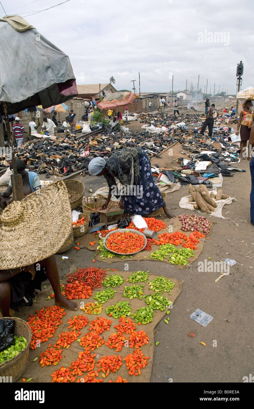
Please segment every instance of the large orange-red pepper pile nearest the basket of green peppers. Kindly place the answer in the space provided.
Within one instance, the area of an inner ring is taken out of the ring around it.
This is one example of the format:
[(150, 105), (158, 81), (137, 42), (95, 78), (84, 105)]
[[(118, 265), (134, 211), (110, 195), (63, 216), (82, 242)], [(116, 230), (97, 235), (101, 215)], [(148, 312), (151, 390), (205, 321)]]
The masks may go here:
[(65, 314), (65, 310), (60, 306), (46, 307), (36, 311), (35, 315), (30, 314), (27, 322), (32, 331), (31, 349), (36, 348), (37, 341), (47, 342), (54, 336), (56, 328), (63, 323)]

